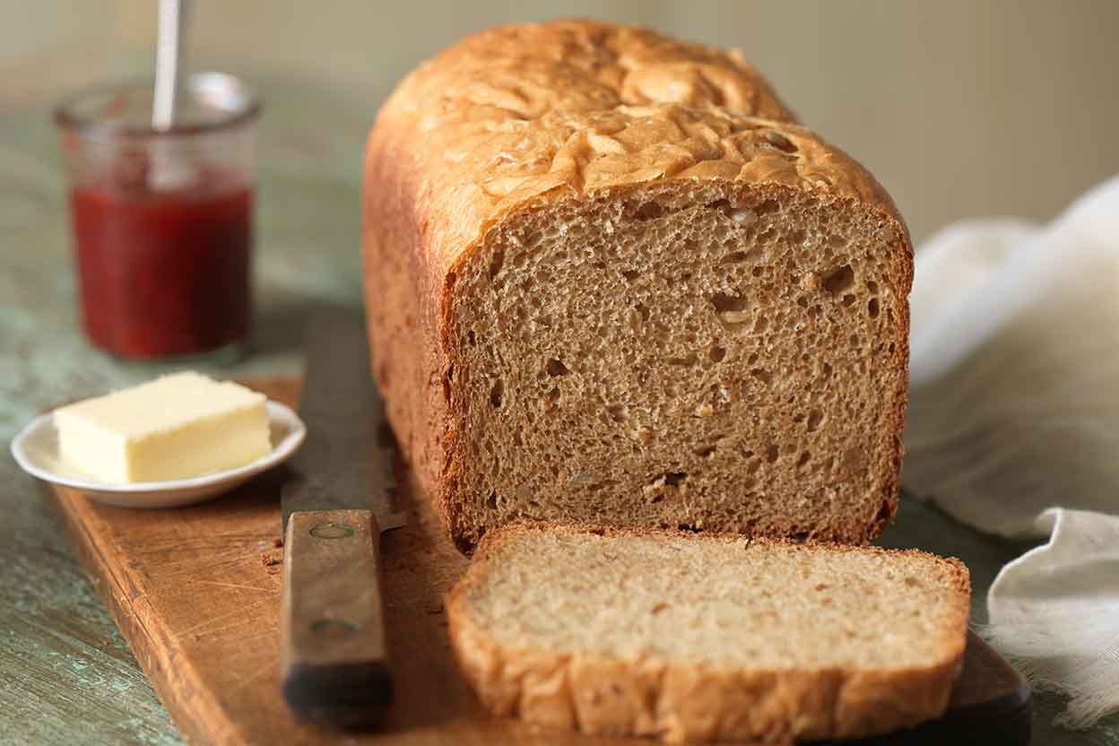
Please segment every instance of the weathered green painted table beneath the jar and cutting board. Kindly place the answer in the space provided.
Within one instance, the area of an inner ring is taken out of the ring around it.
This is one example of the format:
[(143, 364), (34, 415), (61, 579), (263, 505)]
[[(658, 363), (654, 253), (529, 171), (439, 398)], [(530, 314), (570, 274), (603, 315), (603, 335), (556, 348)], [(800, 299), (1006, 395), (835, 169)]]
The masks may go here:
[[(260, 81), (257, 81), (260, 83)], [(0, 89), (2, 89), (0, 81)], [(375, 106), (263, 81), (256, 333), (225, 377), (298, 372), (300, 320), (316, 303), (357, 305), (358, 183)], [(132, 384), (159, 366), (91, 350), (76, 321), (65, 179), (47, 102), (0, 95), (0, 441), (51, 404)], [(178, 744), (109, 614), (85, 580), (44, 490), (0, 455), (0, 744)], [(883, 542), (961, 557), (975, 618), (1003, 563), (1025, 546), (984, 537), (904, 500)], [(1085, 733), (1050, 724), (1036, 698), (1035, 743), (1119, 746), (1119, 718)]]

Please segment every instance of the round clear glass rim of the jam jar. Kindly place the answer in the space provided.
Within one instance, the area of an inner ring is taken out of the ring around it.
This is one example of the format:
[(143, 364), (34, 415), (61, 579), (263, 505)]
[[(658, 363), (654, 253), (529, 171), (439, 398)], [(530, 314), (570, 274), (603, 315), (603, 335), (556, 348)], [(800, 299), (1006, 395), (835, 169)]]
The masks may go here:
[(81, 111), (92, 101), (105, 100), (107, 103), (130, 92), (149, 93), (153, 85), (152, 78), (130, 78), (85, 88), (55, 107), (55, 124), (90, 138), (167, 138), (232, 129), (261, 113), (260, 96), (244, 81), (228, 73), (214, 72), (192, 73), (184, 78), (180, 86), (180, 96), (214, 113), (207, 121), (175, 122), (167, 129), (157, 129), (150, 122), (113, 121)]

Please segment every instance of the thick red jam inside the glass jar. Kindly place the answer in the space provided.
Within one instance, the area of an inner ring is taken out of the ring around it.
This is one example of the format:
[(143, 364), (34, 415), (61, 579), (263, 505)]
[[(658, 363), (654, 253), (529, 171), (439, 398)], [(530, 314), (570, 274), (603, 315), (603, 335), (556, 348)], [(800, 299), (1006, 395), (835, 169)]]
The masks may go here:
[(244, 340), (253, 190), (206, 171), (153, 191), (143, 171), (70, 192), (85, 331), (128, 358), (195, 355)]

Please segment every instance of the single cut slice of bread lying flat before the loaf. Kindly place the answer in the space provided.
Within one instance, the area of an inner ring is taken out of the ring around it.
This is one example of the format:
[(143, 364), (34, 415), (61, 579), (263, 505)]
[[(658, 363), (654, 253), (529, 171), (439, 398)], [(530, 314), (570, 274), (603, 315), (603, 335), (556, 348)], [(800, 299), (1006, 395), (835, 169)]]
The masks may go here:
[(959, 560), (920, 551), (514, 523), (486, 535), (448, 614), (497, 715), (788, 743), (941, 715), (969, 597)]

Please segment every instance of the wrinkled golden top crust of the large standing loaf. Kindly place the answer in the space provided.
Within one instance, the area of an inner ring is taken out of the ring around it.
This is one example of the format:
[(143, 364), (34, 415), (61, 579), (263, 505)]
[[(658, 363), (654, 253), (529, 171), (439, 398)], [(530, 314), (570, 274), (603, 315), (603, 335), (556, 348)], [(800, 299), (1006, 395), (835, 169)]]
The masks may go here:
[(874, 177), (794, 122), (737, 51), (587, 20), (520, 23), (470, 36), (405, 77), (368, 157), (396, 159), (416, 190), (443, 276), (519, 207), (653, 180), (782, 185), (902, 224)]

